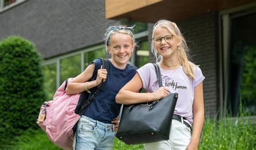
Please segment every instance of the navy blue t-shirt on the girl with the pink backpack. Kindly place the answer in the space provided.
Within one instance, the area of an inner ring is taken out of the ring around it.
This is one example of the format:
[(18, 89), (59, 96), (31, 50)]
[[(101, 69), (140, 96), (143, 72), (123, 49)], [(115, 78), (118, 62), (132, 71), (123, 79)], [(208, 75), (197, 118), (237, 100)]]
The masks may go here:
[[(118, 91), (130, 81), (136, 74), (137, 67), (127, 64), (125, 69), (118, 69), (110, 60), (107, 60), (110, 70), (107, 72), (107, 81), (102, 92), (98, 94), (96, 99), (85, 108), (84, 115), (94, 120), (111, 124), (113, 118), (117, 117), (120, 112), (121, 104), (116, 103), (116, 95)], [(100, 69), (102, 62), (100, 59), (93, 60), (95, 70), (93, 74)], [(91, 97), (93, 92), (90, 94)]]

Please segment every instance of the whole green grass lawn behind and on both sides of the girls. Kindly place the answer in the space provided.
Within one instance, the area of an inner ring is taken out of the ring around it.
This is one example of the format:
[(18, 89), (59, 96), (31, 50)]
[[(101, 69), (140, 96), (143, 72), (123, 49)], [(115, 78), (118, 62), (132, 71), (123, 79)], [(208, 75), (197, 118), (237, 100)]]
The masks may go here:
[[(205, 119), (198, 149), (256, 149), (255, 125), (250, 119)], [(60, 149), (39, 130), (28, 130), (12, 140), (11, 145), (0, 149)], [(143, 145), (126, 145), (117, 138), (113, 149), (144, 149)]]

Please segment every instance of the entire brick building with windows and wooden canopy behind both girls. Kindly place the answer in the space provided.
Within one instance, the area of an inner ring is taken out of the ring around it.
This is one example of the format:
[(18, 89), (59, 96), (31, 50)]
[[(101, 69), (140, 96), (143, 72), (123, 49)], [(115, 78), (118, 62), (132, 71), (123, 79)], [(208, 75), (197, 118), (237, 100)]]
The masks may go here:
[(253, 1), (0, 2), (0, 40), (20, 35), (35, 43), (44, 58), (44, 86), (49, 99), (66, 78), (76, 77), (93, 59), (109, 57), (103, 40), (108, 26), (137, 24), (139, 48), (131, 63), (140, 67), (154, 62), (150, 52), (152, 26), (158, 19), (166, 18), (177, 23), (191, 49), (193, 62), (200, 65), (206, 77), (206, 115), (223, 116), (228, 110), (236, 115), (240, 101), (245, 110), (256, 114), (256, 83), (250, 75), (255, 69), (251, 69), (252, 60), (248, 58), (256, 51)]

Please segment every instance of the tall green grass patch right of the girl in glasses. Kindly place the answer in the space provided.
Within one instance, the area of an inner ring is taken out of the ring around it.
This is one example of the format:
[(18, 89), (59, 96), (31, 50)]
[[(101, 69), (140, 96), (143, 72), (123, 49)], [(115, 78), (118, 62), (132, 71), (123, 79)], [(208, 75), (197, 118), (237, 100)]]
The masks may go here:
[(255, 129), (249, 119), (205, 119), (199, 149), (256, 149)]

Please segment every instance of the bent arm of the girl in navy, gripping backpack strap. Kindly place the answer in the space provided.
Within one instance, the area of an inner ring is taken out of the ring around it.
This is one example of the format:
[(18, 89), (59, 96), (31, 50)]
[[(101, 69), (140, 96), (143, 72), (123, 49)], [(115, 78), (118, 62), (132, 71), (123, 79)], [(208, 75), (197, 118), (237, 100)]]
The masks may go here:
[[(79, 74), (76, 78), (73, 78), (68, 86), (66, 87), (66, 93), (67, 94), (76, 94), (76, 93), (81, 93), (85, 91), (85, 83), (86, 81), (90, 80), (93, 75), (93, 71), (95, 70), (95, 64), (92, 63), (89, 65), (84, 72)], [(89, 81), (87, 83), (87, 89), (89, 90), (90, 88), (96, 87), (100, 84), (102, 80), (105, 80), (107, 76), (107, 71), (106, 69), (102, 69), (102, 66), (97, 72), (97, 78), (96, 80)]]

